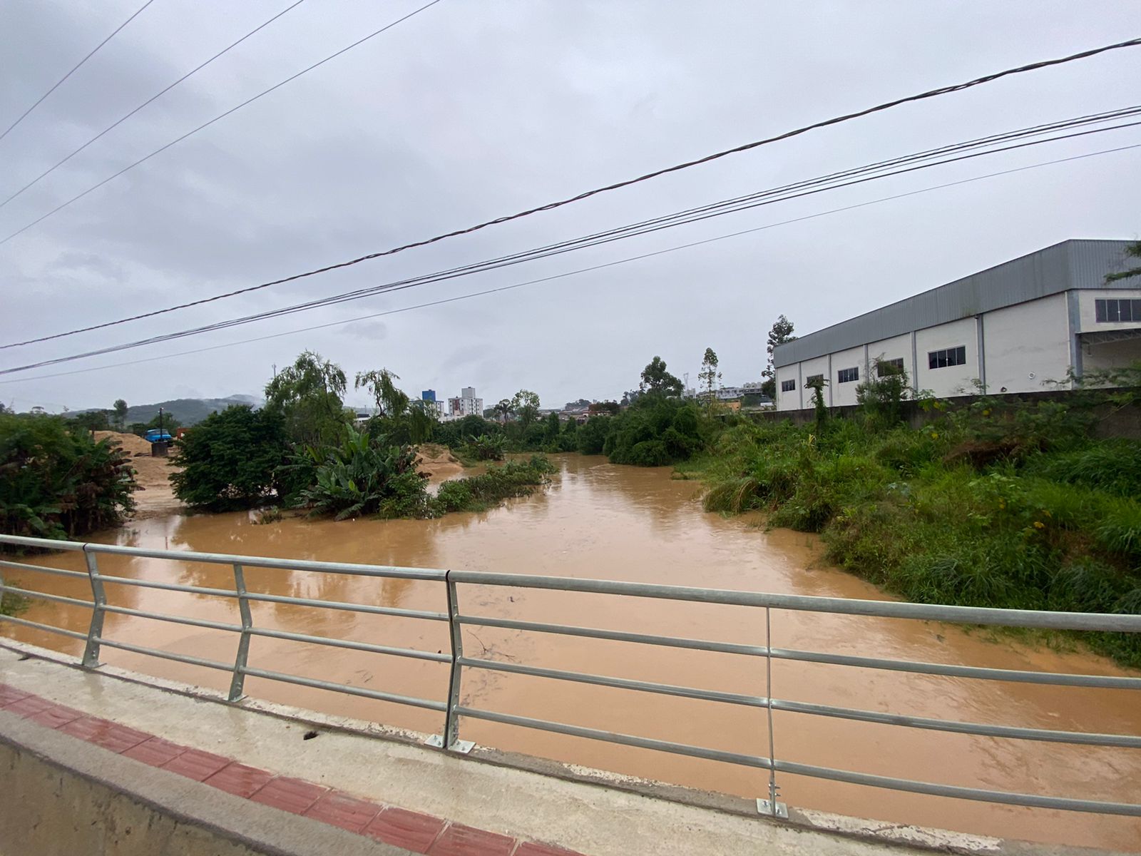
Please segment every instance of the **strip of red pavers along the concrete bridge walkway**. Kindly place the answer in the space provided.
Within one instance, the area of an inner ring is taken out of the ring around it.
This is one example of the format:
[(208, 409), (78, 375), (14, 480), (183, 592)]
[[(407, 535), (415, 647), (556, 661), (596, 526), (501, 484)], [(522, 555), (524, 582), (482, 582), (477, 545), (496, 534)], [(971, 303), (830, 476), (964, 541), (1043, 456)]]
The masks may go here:
[(580, 856), (560, 847), (371, 802), (301, 778), (276, 776), (233, 758), (89, 717), (6, 684), (0, 684), (0, 710), (227, 793), (428, 856)]

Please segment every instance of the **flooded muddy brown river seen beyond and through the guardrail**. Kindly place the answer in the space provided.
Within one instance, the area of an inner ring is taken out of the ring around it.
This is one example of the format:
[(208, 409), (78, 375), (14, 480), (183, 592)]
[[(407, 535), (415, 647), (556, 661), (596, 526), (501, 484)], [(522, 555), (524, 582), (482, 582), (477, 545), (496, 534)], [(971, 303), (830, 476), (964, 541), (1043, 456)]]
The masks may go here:
[[(681, 586), (884, 599), (873, 586), (828, 567), (814, 536), (766, 532), (755, 518), (705, 514), (697, 484), (669, 469), (557, 455), (560, 474), (544, 491), (485, 514), (436, 520), (285, 519), (258, 525), (249, 515), (161, 516), (108, 533), (103, 541), (304, 559), (435, 568), (633, 580)], [(42, 564), (82, 570), (80, 557)], [(100, 556), (107, 574), (232, 588), (227, 566)], [(251, 590), (331, 600), (444, 611), (438, 583), (248, 568)], [(88, 597), (80, 580), (17, 574), (27, 588)], [(9, 578), (11, 579), (11, 578)], [(232, 600), (108, 586), (111, 603), (236, 622)], [(745, 607), (641, 598), (461, 587), (467, 614), (764, 644), (763, 613)], [(377, 644), (447, 651), (446, 625), (351, 612), (252, 604), (254, 624)], [(25, 617), (87, 630), (88, 612), (40, 601)], [(3, 625), (6, 635), (71, 654), (81, 644)], [(111, 639), (232, 661), (230, 633), (108, 614)], [(772, 644), (868, 656), (1045, 671), (1124, 675), (1111, 662), (1031, 647), (982, 631), (888, 619), (774, 612)], [(764, 661), (733, 654), (659, 648), (513, 630), (471, 628), (468, 656), (764, 695)], [(251, 665), (404, 695), (443, 700), (447, 665), (294, 641), (253, 638)], [(229, 676), (154, 657), (103, 649), (126, 669), (226, 689)], [(264, 679), (254, 697), (334, 714), (439, 733), (443, 716)], [(772, 695), (807, 702), (976, 722), (1065, 730), (1141, 734), (1141, 697), (1132, 691), (1041, 687), (776, 661)], [(466, 670), (469, 706), (768, 756), (764, 711), (609, 687)], [(463, 720), (461, 736), (479, 744), (695, 788), (763, 797), (763, 770), (577, 737)], [(845, 769), (948, 784), (1136, 802), (1141, 751), (1068, 746), (851, 722), (777, 711), (776, 756)], [(914, 823), (1035, 841), (1141, 850), (1141, 819), (995, 806), (782, 775), (782, 799), (893, 823)]]

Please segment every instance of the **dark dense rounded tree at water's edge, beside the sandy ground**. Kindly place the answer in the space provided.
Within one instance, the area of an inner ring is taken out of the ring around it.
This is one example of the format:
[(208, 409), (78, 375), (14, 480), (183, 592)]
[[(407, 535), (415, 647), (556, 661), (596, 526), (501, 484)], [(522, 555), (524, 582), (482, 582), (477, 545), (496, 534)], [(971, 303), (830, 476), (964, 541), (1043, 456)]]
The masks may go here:
[(195, 508), (228, 511), (272, 501), (289, 449), (284, 419), (235, 404), (211, 413), (178, 441), (175, 495)]

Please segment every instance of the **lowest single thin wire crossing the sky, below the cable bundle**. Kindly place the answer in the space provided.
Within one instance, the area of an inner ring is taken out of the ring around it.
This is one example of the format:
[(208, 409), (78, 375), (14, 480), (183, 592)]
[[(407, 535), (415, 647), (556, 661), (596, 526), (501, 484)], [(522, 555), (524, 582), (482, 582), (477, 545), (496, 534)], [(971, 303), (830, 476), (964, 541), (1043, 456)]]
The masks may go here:
[(971, 184), (973, 181), (981, 181), (981, 180), (988, 179), (988, 178), (997, 178), (997, 177), (1001, 177), (1001, 176), (1009, 176), (1009, 175), (1013, 175), (1013, 173), (1017, 173), (1017, 172), (1026, 172), (1026, 171), (1031, 170), (1031, 169), (1039, 169), (1042, 167), (1051, 167), (1051, 165), (1055, 165), (1055, 164), (1059, 164), (1059, 163), (1069, 163), (1070, 161), (1079, 161), (1079, 160), (1085, 160), (1087, 158), (1097, 158), (1097, 156), (1103, 155), (1103, 154), (1112, 154), (1112, 153), (1116, 153), (1116, 152), (1127, 152), (1127, 151), (1133, 150), (1133, 148), (1141, 148), (1141, 143), (1136, 143), (1136, 144), (1128, 145), (1128, 146), (1117, 146), (1115, 148), (1103, 148), (1103, 150), (1098, 151), (1098, 152), (1086, 152), (1085, 154), (1076, 154), (1076, 155), (1070, 155), (1068, 158), (1059, 158), (1059, 159), (1055, 159), (1055, 160), (1052, 160), (1052, 161), (1042, 161), (1039, 163), (1030, 163), (1030, 164), (1027, 164), (1027, 165), (1023, 165), (1023, 167), (1014, 167), (1012, 169), (1004, 169), (1004, 170), (1000, 170), (997, 172), (988, 172), (988, 173), (985, 173), (985, 175), (981, 175), (981, 176), (973, 176), (971, 178), (962, 178), (962, 179), (958, 179), (958, 180), (955, 180), (955, 181), (947, 181), (945, 184), (933, 185), (931, 187), (922, 187), (922, 188), (920, 188), (917, 191), (907, 191), (905, 193), (897, 193), (897, 194), (893, 194), (893, 195), (890, 195), (890, 196), (881, 196), (880, 199), (868, 200), (866, 202), (858, 202), (858, 203), (855, 203), (855, 204), (851, 204), (851, 205), (843, 205), (841, 208), (833, 208), (833, 209), (830, 209), (827, 211), (818, 211), (816, 213), (804, 215), (803, 217), (794, 217), (794, 218), (788, 219), (788, 220), (780, 220), (778, 223), (766, 224), (764, 226), (755, 226), (753, 228), (742, 229), (739, 232), (731, 232), (729, 234), (718, 235), (715, 237), (707, 237), (707, 239), (704, 239), (702, 241), (694, 241), (694, 242), (686, 243), (686, 244), (679, 244), (677, 247), (669, 247), (669, 248), (663, 249), (663, 250), (655, 250), (653, 252), (646, 252), (646, 253), (641, 253), (639, 256), (630, 256), (630, 257), (626, 257), (626, 258), (623, 258), (623, 259), (617, 259), (617, 260), (614, 260), (614, 261), (607, 261), (607, 263), (604, 263), (601, 265), (592, 265), (590, 267), (583, 267), (583, 268), (578, 268), (576, 270), (567, 270), (567, 272), (561, 273), (561, 274), (553, 274), (551, 276), (543, 276), (543, 277), (537, 278), (537, 280), (528, 280), (526, 282), (517, 282), (517, 283), (512, 283), (510, 285), (500, 285), (500, 286), (494, 288), (494, 289), (486, 289), (484, 291), (475, 291), (475, 292), (467, 293), (467, 294), (456, 294), (455, 297), (442, 298), (439, 300), (431, 300), (429, 302), (416, 304), (414, 306), (403, 306), (403, 307), (399, 307), (399, 308), (396, 308), (396, 309), (386, 309), (383, 312), (371, 313), (369, 315), (361, 315), (361, 316), (355, 317), (355, 318), (347, 318), (347, 320), (342, 320), (342, 321), (331, 321), (331, 322), (326, 322), (324, 324), (314, 324), (313, 326), (299, 328), (297, 330), (285, 330), (285, 331), (280, 332), (280, 333), (269, 333), (268, 336), (258, 336), (258, 337), (253, 337), (251, 339), (240, 339), (237, 341), (222, 342), (220, 345), (211, 345), (211, 346), (205, 347), (205, 348), (194, 348), (193, 350), (180, 350), (180, 352), (176, 352), (176, 353), (172, 353), (172, 354), (159, 354), (156, 356), (143, 357), (140, 360), (128, 360), (128, 361), (124, 361), (124, 362), (121, 362), (121, 363), (107, 363), (105, 365), (95, 365), (95, 366), (90, 366), (88, 369), (75, 369), (75, 370), (66, 371), (66, 372), (52, 372), (51, 374), (37, 374), (37, 375), (31, 377), (31, 378), (11, 378), (11, 379), (8, 379), (8, 380), (0, 380), (0, 383), (22, 383), (22, 382), (26, 382), (26, 381), (31, 381), (31, 380), (47, 380), (49, 378), (63, 378), (63, 377), (70, 377), (72, 374), (86, 374), (88, 372), (103, 371), (105, 369), (120, 369), (120, 368), (123, 368), (123, 366), (127, 366), (127, 365), (138, 365), (140, 363), (153, 363), (153, 362), (159, 361), (159, 360), (172, 360), (175, 357), (180, 357), (180, 356), (189, 356), (189, 355), (193, 355), (193, 354), (204, 354), (204, 353), (208, 353), (208, 352), (211, 352), (211, 350), (221, 350), (224, 348), (233, 348), (233, 347), (237, 347), (240, 345), (249, 345), (249, 344), (252, 344), (252, 342), (268, 341), (270, 339), (281, 339), (281, 338), (283, 338), (285, 336), (297, 336), (298, 333), (308, 333), (308, 332), (313, 332), (314, 330), (325, 330), (325, 329), (334, 328), (334, 326), (345, 326), (347, 324), (355, 324), (355, 323), (361, 322), (361, 321), (371, 321), (372, 318), (379, 318), (379, 317), (383, 317), (383, 316), (387, 316), (387, 315), (398, 315), (400, 313), (413, 312), (415, 309), (424, 309), (424, 308), (429, 308), (429, 307), (434, 307), (434, 306), (442, 306), (444, 304), (456, 302), (456, 301), (460, 301), (460, 300), (470, 300), (470, 299), (477, 298), (477, 297), (486, 297), (488, 294), (496, 294), (496, 293), (504, 292), (504, 291), (512, 291), (515, 289), (521, 289), (521, 288), (525, 288), (527, 285), (535, 285), (535, 284), (540, 284), (540, 283), (544, 283), (544, 282), (551, 282), (553, 280), (566, 278), (568, 276), (576, 276), (578, 274), (591, 273), (591, 272), (600, 270), (600, 269), (608, 268), (608, 267), (615, 267), (617, 265), (624, 265), (624, 264), (628, 264), (628, 263), (631, 263), (631, 261), (639, 261), (639, 260), (642, 260), (642, 259), (653, 258), (655, 256), (664, 256), (665, 253), (677, 252), (678, 250), (687, 250), (687, 249), (691, 249), (694, 247), (702, 247), (704, 244), (710, 244), (710, 243), (714, 243), (714, 242), (718, 242), (718, 241), (726, 241), (726, 240), (733, 239), (733, 237), (741, 237), (743, 235), (751, 235), (751, 234), (754, 234), (756, 232), (763, 232), (766, 229), (777, 228), (779, 226), (787, 226), (787, 225), (795, 224), (795, 223), (803, 223), (806, 220), (812, 220), (812, 219), (816, 219), (818, 217), (826, 217), (826, 216), (834, 215), (834, 213), (842, 213), (844, 211), (853, 211), (853, 210), (857, 210), (857, 209), (860, 209), (860, 208), (866, 208), (868, 205), (876, 205), (876, 204), (880, 204), (882, 202), (891, 202), (893, 200), (905, 199), (905, 197), (908, 197), (908, 196), (917, 196), (917, 195), (923, 194), (923, 193), (930, 193), (932, 191), (940, 191), (940, 189), (945, 189), (947, 187), (957, 187), (960, 185)]

